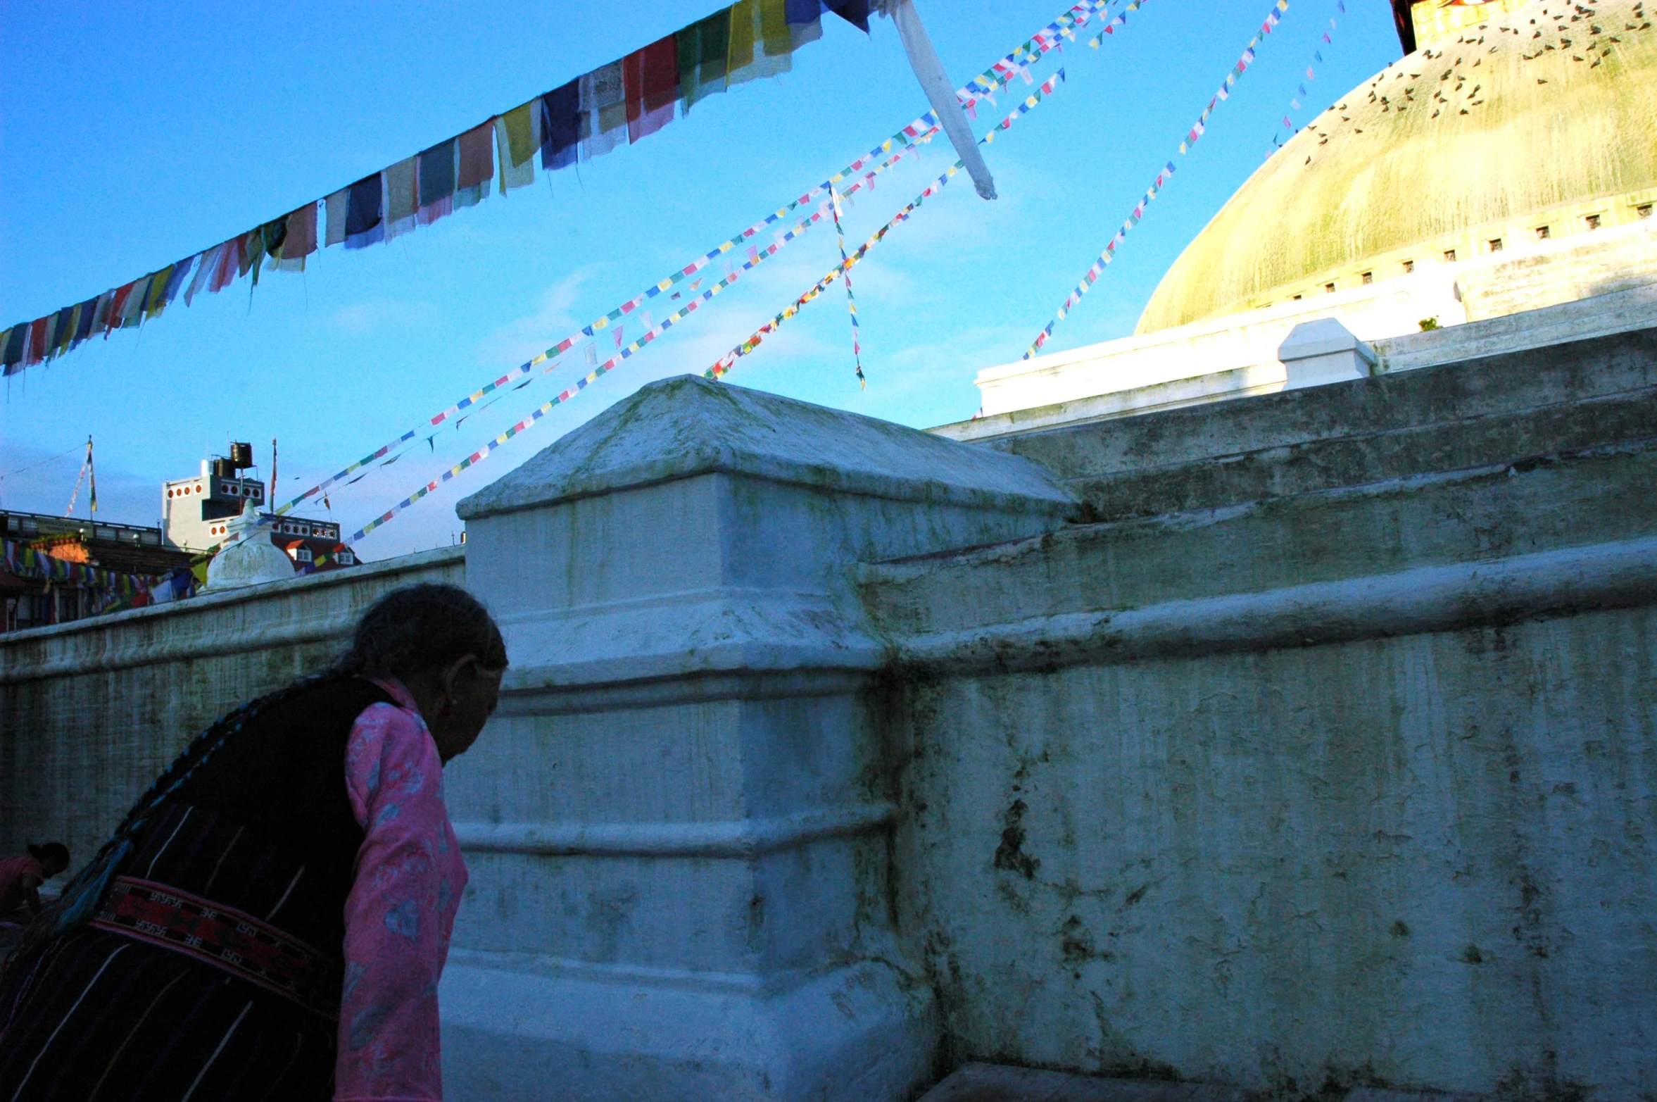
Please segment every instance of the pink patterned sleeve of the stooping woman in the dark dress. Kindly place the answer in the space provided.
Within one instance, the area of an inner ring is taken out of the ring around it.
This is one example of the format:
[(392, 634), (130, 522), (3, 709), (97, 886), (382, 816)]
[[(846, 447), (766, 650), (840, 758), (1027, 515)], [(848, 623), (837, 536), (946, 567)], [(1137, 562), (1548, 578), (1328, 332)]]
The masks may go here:
[(366, 837), (345, 901), (345, 991), (335, 1100), (442, 1099), (437, 978), (466, 862), (442, 804), (442, 762), (401, 681), (356, 718), (345, 785)]

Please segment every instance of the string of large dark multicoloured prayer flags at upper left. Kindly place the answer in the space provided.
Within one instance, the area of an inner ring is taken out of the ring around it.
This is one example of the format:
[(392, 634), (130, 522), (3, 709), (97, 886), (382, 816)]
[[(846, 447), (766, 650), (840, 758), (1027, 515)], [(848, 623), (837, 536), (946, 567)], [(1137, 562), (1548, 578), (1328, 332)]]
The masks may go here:
[[(956, 96), (971, 108), (1074, 35), (1100, 7), (1104, 0), (1075, 3)], [(683, 116), (709, 94), (787, 71), (792, 51), (822, 36), (824, 12), (868, 30), (867, 0), (739, 0), (212, 249), (0, 330), (0, 371), (10, 376), (93, 336), (108, 340), (179, 298), (191, 305), (197, 293), (217, 293), (242, 277), (250, 275), (250, 287), (257, 287), (260, 272), (303, 272), (318, 249), (363, 249), (431, 225), (481, 202), (495, 181), (500, 194), (532, 184), (537, 154), (547, 172), (638, 143), (669, 123), (674, 106)]]

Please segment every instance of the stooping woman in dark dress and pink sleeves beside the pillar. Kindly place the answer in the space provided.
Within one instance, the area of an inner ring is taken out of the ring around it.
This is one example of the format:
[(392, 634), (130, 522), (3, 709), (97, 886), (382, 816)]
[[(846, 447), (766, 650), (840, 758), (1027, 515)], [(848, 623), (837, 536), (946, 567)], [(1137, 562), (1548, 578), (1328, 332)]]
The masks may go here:
[(0, 974), (0, 1102), (441, 1099), (441, 771), (505, 665), (482, 605), (416, 585), (197, 737)]

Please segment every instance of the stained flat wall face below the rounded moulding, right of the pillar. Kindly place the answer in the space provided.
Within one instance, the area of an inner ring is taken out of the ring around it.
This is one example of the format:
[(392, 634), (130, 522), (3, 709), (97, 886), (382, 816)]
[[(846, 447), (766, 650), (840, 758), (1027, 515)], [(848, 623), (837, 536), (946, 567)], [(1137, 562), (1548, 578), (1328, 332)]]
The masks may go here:
[(900, 900), (958, 1056), (1650, 1092), (1654, 631), (911, 688)]

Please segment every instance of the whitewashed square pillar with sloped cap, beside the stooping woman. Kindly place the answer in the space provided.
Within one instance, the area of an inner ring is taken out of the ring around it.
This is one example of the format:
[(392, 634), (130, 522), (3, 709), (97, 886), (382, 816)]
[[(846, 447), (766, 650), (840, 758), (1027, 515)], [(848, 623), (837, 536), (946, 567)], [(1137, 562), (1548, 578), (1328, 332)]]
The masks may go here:
[(1072, 509), (1026, 459), (694, 376), (462, 500), (512, 669), (447, 779), (449, 1097), (908, 1097), (936, 1021), (850, 573)]

